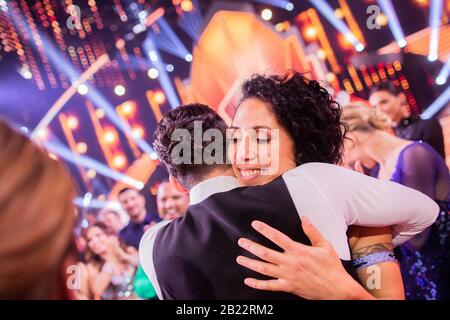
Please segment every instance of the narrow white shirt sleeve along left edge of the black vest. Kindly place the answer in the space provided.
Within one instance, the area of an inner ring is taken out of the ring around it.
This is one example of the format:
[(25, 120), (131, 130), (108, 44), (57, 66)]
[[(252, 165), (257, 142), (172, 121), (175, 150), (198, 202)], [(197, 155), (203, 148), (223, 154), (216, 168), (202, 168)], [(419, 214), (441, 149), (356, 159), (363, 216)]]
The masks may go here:
[(150, 227), (144, 233), (141, 242), (139, 243), (139, 261), (145, 274), (150, 279), (153, 288), (155, 288), (156, 294), (160, 300), (163, 300), (163, 298), (161, 295), (161, 288), (158, 283), (158, 278), (156, 277), (155, 266), (153, 264), (153, 247), (155, 245), (155, 239), (158, 231), (170, 222), (170, 220), (164, 220)]

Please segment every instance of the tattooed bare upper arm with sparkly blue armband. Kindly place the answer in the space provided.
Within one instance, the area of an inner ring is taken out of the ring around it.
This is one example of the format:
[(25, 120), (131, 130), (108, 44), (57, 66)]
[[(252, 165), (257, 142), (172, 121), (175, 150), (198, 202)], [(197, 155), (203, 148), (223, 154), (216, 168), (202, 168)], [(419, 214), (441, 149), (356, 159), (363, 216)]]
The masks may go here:
[[(356, 270), (362, 286), (378, 299), (404, 300), (400, 267), (392, 258), (391, 228), (351, 226), (347, 235), (353, 261), (366, 264)], [(384, 258), (380, 259), (380, 256)], [(376, 259), (373, 264), (370, 262), (372, 259)]]

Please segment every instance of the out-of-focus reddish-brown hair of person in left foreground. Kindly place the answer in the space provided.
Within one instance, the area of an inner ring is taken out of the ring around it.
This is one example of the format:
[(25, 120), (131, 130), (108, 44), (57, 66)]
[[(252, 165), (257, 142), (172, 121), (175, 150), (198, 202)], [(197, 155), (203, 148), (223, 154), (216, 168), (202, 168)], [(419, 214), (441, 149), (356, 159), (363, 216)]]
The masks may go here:
[(0, 163), (0, 299), (76, 298), (66, 285), (76, 265), (68, 172), (3, 121)]

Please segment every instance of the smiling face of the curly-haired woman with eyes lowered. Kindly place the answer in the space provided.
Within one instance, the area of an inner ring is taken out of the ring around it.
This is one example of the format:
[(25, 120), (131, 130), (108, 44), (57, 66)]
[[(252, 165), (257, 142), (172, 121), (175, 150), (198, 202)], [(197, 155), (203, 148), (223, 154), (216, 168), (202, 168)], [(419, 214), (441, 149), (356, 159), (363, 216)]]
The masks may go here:
[(228, 130), (228, 157), (242, 185), (261, 185), (295, 168), (295, 144), (270, 104), (244, 100)]

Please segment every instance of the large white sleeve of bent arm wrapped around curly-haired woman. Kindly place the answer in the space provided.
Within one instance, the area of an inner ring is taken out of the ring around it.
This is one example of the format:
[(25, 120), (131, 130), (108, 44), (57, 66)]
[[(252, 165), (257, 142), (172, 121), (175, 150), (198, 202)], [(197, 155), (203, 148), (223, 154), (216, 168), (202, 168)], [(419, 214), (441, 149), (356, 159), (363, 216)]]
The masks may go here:
[(325, 163), (308, 163), (291, 171), (314, 181), (336, 214), (344, 214), (347, 226), (392, 226), (394, 246), (425, 230), (439, 214), (432, 199), (399, 183)]

